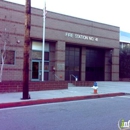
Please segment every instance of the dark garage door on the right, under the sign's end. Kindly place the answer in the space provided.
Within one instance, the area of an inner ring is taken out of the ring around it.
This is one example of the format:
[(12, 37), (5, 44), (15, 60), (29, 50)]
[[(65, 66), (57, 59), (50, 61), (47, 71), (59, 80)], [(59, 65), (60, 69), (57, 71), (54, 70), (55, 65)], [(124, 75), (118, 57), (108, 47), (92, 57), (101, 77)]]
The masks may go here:
[(86, 81), (104, 81), (104, 50), (86, 50)]

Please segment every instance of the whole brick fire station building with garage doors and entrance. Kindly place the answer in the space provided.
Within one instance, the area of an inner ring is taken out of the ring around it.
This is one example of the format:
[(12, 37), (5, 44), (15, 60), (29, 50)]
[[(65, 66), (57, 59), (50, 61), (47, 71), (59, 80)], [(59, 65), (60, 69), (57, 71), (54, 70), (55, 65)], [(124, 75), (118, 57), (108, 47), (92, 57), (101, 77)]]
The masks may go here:
[[(23, 80), (25, 6), (0, 1), (7, 51), (2, 81)], [(6, 32), (5, 32), (6, 28)], [(119, 27), (48, 11), (44, 81), (119, 81)], [(43, 11), (31, 9), (30, 81), (41, 81)], [(0, 40), (1, 50), (3, 40)]]

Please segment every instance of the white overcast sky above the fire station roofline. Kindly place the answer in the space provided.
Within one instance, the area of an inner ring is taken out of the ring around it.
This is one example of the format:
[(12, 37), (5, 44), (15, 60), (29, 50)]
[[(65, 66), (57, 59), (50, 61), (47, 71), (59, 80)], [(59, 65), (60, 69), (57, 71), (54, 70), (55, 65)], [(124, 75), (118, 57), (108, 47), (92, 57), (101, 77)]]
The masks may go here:
[[(25, 5), (25, 0), (6, 0)], [(46, 9), (65, 15), (120, 27), (130, 33), (130, 0), (46, 0)], [(44, 0), (31, 0), (43, 9)]]

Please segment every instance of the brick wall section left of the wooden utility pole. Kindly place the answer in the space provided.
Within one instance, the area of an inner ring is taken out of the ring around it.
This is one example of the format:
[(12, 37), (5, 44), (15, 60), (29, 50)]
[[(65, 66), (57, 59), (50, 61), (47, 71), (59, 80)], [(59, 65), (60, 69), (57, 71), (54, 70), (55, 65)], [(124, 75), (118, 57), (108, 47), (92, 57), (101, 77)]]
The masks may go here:
[[(15, 64), (4, 65), (3, 80), (22, 80), (24, 17), (23, 6), (0, 1), (0, 35), (7, 29), (7, 50), (15, 51)], [(20, 43), (18, 43), (20, 40)], [(0, 44), (2, 40), (0, 39)]]

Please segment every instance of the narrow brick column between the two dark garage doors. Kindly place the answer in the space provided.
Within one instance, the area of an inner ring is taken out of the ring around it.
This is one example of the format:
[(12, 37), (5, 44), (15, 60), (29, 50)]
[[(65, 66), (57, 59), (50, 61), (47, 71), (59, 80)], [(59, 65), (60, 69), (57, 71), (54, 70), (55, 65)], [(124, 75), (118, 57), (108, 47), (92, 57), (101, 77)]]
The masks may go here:
[(86, 47), (81, 49), (81, 81), (85, 81)]

